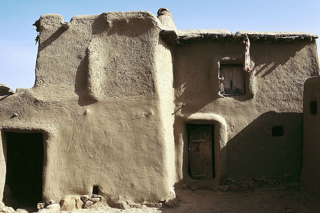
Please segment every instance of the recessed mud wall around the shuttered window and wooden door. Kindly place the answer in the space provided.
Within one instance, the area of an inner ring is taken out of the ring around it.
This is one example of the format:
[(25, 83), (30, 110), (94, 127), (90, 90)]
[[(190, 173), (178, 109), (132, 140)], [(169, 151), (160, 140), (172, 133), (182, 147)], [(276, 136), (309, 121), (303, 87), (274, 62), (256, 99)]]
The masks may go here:
[[(217, 180), (197, 181), (188, 175), (185, 125), (188, 122), (218, 126), (226, 123), (226, 131), (215, 126), (214, 136), (220, 147), (220, 157), (215, 154), (216, 161), (220, 161), (216, 165), (220, 184), (226, 177), (300, 175), (302, 82), (319, 75), (315, 41), (252, 42), (253, 75), (245, 73), (246, 95), (239, 96), (220, 94), (219, 65), (242, 60), (240, 42), (192, 43), (192, 46), (176, 46), (174, 50), (176, 109), (182, 106), (175, 114), (174, 124), (177, 182), (191, 188), (213, 188), (218, 184)], [(202, 120), (188, 119), (195, 115)], [(213, 121), (210, 116), (215, 117)], [(272, 127), (278, 125), (283, 125), (284, 135), (272, 137)], [(227, 138), (226, 142), (221, 138)]]

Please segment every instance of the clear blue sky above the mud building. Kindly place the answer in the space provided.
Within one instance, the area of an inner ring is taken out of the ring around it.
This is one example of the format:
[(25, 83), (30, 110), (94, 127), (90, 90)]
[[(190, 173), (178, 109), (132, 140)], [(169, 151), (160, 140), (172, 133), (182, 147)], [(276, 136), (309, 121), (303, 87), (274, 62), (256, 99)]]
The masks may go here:
[[(320, 0), (300, 1), (4, 1), (0, 7), (0, 83), (12, 90), (35, 82), (37, 35), (42, 14), (76, 15), (109, 11), (150, 11), (167, 7), (178, 29), (300, 31), (320, 35)], [(320, 43), (320, 40), (318, 40)], [(320, 45), (320, 44), (319, 44)], [(319, 50), (318, 50), (319, 53)]]

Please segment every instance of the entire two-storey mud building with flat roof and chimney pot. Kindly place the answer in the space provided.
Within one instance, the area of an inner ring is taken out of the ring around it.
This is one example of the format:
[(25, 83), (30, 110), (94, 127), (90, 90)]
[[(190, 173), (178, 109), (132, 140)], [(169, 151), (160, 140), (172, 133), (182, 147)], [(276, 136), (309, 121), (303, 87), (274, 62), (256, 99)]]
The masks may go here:
[(0, 96), (0, 191), (21, 205), (170, 205), (174, 187), (300, 176), (316, 35), (177, 30), (166, 9), (35, 26), (35, 85)]

